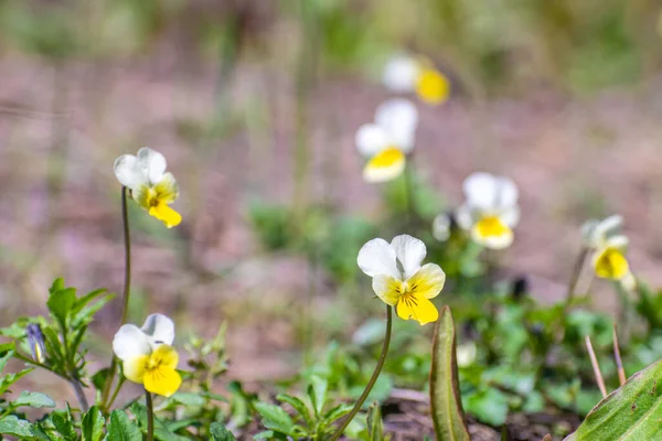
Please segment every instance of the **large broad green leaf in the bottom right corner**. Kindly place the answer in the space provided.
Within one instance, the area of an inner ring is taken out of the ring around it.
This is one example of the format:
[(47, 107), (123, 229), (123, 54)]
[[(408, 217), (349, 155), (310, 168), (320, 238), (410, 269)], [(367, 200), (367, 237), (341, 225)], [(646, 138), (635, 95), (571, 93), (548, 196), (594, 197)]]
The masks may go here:
[(662, 439), (662, 361), (632, 375), (588, 413), (566, 441)]

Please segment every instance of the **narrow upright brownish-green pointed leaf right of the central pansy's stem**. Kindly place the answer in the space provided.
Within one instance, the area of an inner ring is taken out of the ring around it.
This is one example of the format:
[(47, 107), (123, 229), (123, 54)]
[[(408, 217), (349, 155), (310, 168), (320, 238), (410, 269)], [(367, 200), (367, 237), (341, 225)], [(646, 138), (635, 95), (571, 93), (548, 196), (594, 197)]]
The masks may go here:
[(430, 407), (437, 441), (470, 440), (458, 384), (455, 324), (448, 306), (444, 306), (435, 326)]

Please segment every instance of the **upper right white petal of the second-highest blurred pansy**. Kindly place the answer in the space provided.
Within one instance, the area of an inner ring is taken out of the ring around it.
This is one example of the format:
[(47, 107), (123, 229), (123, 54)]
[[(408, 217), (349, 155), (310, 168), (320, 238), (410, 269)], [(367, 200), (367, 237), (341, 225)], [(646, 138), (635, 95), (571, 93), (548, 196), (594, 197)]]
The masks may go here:
[(389, 140), (403, 152), (414, 149), (414, 137), (418, 125), (418, 110), (405, 98), (384, 101), (375, 112), (375, 122), (388, 133)]

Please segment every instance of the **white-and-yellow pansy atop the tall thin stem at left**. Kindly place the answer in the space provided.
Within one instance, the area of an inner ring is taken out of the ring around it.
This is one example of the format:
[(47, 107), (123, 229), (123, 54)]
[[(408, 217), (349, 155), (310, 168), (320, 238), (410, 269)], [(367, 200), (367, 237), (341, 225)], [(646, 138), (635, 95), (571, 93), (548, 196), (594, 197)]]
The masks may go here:
[(136, 157), (122, 154), (115, 161), (115, 175), (150, 216), (168, 228), (182, 222), (182, 216), (169, 206), (177, 200), (179, 187), (172, 173), (166, 173), (166, 158), (161, 153), (143, 147)]

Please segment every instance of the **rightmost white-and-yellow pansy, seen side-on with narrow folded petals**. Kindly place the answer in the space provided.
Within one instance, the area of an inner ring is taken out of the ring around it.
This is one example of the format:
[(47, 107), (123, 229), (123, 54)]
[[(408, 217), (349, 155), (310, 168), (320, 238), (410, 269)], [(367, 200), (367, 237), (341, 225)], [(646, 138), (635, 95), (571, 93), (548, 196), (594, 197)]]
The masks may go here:
[(630, 284), (630, 266), (626, 258), (628, 238), (620, 234), (621, 216), (609, 216), (604, 220), (588, 220), (581, 226), (586, 247), (594, 251), (591, 263), (596, 275), (602, 279), (622, 280)]

